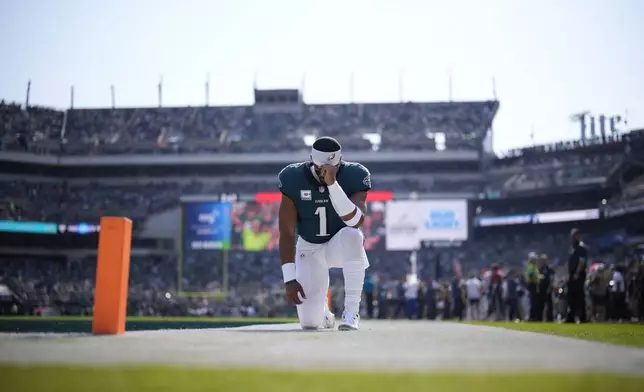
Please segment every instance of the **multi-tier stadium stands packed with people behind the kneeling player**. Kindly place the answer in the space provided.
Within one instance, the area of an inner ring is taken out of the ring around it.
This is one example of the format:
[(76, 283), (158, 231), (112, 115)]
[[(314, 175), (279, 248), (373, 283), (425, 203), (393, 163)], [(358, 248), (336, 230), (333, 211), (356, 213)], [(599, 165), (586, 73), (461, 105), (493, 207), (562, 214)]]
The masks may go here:
[[(101, 216), (128, 216), (135, 222), (138, 237), (152, 218), (178, 210), (185, 195), (274, 192), (276, 170), (271, 166), (258, 172), (253, 171), (256, 166), (248, 166), (228, 174), (223, 169), (191, 173), (191, 168), (178, 167), (181, 165), (135, 168), (124, 164), (120, 169), (94, 165), (70, 174), (71, 170), (65, 172), (65, 168), (36, 158), (288, 155), (306, 150), (307, 140), (324, 134), (336, 136), (350, 152), (478, 154), (474, 165), (465, 168), (456, 164), (456, 169), (449, 171), (423, 162), (413, 163), (415, 166), (400, 162), (373, 165), (377, 168), (372, 170), (376, 191), (408, 199), (470, 195), (468, 240), (451, 246), (427, 243), (417, 251), (417, 273), (424, 281), (421, 298), (435, 292), (431, 301), (442, 301), (444, 309), (449, 308), (446, 287), (456, 272), (455, 265), (468, 275), (471, 271), (483, 274), (492, 264), (505, 271), (520, 270), (528, 253), (538, 251), (548, 254), (551, 263), (561, 268), (572, 226), (581, 227), (587, 241), (597, 244), (593, 257), (604, 264), (634, 266), (639, 262), (637, 246), (644, 242), (642, 210), (637, 210), (644, 201), (644, 165), (640, 163), (644, 131), (532, 146), (496, 157), (486, 149), (485, 141), (497, 108), (497, 102), (450, 102), (302, 105), (285, 112), (259, 111), (252, 106), (57, 111), (2, 102), (0, 220), (96, 224)], [(389, 166), (389, 171), (381, 166)], [(292, 315), (294, 309), (284, 302), (276, 268), (276, 207), (236, 202), (232, 247), (227, 253), (180, 254), (176, 246), (135, 249), (128, 312)], [(380, 305), (385, 309), (385, 304), (394, 306), (401, 299), (397, 288), (409, 272), (411, 252), (386, 249), (385, 206), (371, 202), (369, 208), (363, 227), (365, 246), (372, 265), (370, 274), (378, 281)], [(591, 209), (601, 212), (598, 218), (543, 225), (480, 224), (484, 218)], [(178, 227), (178, 220), (172, 221), (173, 225)], [(269, 240), (261, 250), (244, 247), (242, 233), (247, 228), (267, 234)], [(615, 233), (621, 235), (621, 242), (606, 240)], [(0, 243), (0, 277), (18, 296), (20, 308), (16, 312), (91, 313), (95, 252), (75, 248), (77, 237), (68, 242), (70, 249), (49, 253), (10, 240)], [(599, 245), (605, 242), (609, 244)], [(338, 303), (341, 279), (335, 272), (332, 282), (334, 303)], [(178, 295), (181, 290), (201, 294), (183, 297)], [(639, 290), (633, 295), (644, 292)], [(388, 315), (395, 316), (391, 311)]]

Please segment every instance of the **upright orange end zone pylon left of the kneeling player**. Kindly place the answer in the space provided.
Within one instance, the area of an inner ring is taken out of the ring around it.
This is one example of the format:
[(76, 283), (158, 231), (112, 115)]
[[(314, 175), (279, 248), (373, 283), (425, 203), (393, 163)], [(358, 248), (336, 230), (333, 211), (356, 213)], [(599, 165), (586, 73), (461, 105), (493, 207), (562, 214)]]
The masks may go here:
[(101, 218), (92, 319), (92, 333), (95, 335), (125, 333), (131, 246), (131, 220)]

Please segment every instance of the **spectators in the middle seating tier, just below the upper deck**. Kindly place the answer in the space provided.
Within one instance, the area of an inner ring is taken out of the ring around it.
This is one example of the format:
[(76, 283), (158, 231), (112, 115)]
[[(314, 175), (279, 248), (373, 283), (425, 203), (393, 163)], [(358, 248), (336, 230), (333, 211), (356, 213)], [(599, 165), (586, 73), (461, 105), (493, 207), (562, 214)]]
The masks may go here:
[[(560, 168), (559, 172), (567, 170), (576, 172), (576, 166)], [(596, 167), (595, 176), (602, 168)], [(527, 178), (532, 172), (530, 166), (523, 167), (521, 174), (511, 175), (512, 178)], [(586, 170), (588, 166), (586, 166)], [(481, 194), (482, 183), (479, 181), (450, 181), (448, 178), (429, 178), (423, 181), (418, 176), (383, 176), (373, 182), (374, 190), (393, 191), (401, 194), (410, 193), (450, 193), (459, 192), (471, 195)], [(507, 175), (506, 177), (507, 178)], [(577, 178), (577, 177), (571, 177)], [(510, 180), (508, 180), (510, 181)], [(638, 197), (641, 189), (641, 179), (632, 184), (624, 197)], [(523, 182), (524, 186), (527, 180)], [(507, 187), (495, 187), (494, 182), (488, 182), (488, 193), (507, 191)], [(556, 189), (551, 183), (551, 189)], [(527, 189), (527, 188), (524, 188)], [(561, 187), (559, 187), (561, 189)], [(494, 191), (492, 191), (494, 190)], [(136, 181), (125, 179), (101, 181), (86, 179), (65, 181), (58, 179), (42, 179), (39, 177), (13, 176), (0, 174), (0, 219), (22, 221), (48, 222), (94, 222), (100, 216), (118, 214), (126, 215), (137, 221), (156, 212), (175, 207), (181, 195), (190, 194), (255, 194), (256, 192), (276, 192), (275, 178), (252, 176), (244, 180), (243, 176), (231, 182), (226, 179), (211, 178), (204, 181), (173, 181), (167, 178), (138, 178)], [(641, 196), (639, 196), (641, 197)], [(548, 201), (544, 205), (533, 206), (535, 210), (558, 210), (568, 208), (572, 203), (570, 198)], [(601, 200), (578, 198), (572, 209), (596, 208)], [(494, 203), (482, 206), (477, 214), (485, 216), (510, 214), (516, 212), (516, 205)], [(525, 212), (525, 211), (524, 211)], [(534, 211), (537, 212), (537, 211)]]

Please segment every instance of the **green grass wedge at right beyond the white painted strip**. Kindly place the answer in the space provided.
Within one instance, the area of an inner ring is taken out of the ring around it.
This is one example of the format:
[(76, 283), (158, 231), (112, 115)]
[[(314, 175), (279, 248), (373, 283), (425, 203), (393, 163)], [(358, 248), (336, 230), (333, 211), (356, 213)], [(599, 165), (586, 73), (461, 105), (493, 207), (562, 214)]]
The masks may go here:
[(471, 322), (472, 325), (500, 327), (515, 331), (536, 332), (566, 338), (644, 348), (644, 324), (555, 324)]

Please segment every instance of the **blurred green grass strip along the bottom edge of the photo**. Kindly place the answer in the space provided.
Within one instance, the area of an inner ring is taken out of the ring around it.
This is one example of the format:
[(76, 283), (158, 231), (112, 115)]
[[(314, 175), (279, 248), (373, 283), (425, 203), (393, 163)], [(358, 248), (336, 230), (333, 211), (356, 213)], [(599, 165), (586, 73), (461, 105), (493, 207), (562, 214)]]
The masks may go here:
[(611, 391), (641, 392), (644, 378), (601, 374), (369, 374), (204, 370), (175, 367), (0, 366), (6, 391), (328, 392)]

